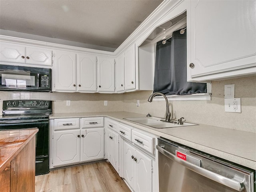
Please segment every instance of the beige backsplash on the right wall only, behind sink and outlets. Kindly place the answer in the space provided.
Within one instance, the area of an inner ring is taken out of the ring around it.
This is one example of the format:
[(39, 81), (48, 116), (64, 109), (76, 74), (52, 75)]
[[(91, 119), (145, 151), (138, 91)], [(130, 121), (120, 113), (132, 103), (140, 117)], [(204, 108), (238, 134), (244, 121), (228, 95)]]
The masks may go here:
[[(224, 85), (235, 84), (235, 98), (241, 98), (242, 113), (224, 111)], [(152, 91), (124, 94), (124, 110), (165, 117), (165, 101), (148, 102)], [(136, 106), (140, 100), (140, 106)], [(256, 76), (212, 82), (211, 101), (170, 101), (172, 118), (184, 117), (199, 124), (256, 133)]]

